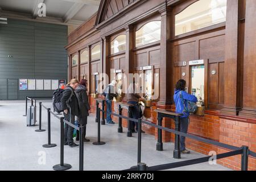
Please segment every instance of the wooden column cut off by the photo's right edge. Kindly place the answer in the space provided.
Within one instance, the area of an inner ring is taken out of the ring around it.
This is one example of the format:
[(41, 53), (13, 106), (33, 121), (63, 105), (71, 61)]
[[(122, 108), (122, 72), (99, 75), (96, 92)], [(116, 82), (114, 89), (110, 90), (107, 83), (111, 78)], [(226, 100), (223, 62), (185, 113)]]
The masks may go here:
[(246, 0), (242, 117), (256, 118), (256, 1)]

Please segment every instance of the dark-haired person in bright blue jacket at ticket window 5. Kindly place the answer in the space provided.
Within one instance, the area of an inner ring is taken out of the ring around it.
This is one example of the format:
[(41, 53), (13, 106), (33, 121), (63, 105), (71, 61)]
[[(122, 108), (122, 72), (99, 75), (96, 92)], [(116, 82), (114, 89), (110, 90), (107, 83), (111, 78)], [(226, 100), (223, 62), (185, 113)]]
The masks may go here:
[[(180, 117), (180, 131), (183, 133), (188, 133), (188, 124), (189, 124), (189, 113), (193, 113), (196, 111), (196, 96), (192, 96), (185, 91), (186, 81), (179, 80), (175, 86), (174, 93), (174, 102), (176, 106), (176, 113), (183, 114)], [(180, 137), (180, 151), (181, 154), (190, 154), (185, 148), (185, 137)]]

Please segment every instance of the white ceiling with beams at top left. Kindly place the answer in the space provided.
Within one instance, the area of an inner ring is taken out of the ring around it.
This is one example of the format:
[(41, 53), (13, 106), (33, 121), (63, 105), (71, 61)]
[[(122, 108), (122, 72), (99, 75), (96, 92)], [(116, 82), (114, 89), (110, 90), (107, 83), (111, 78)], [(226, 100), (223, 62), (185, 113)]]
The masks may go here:
[[(16, 14), (26, 14), (31, 19), (43, 18), (32, 15), (37, 12), (36, 7), (40, 2), (46, 4), (46, 18), (55, 18), (56, 23), (81, 24), (85, 22), (98, 10), (100, 0), (0, 0), (0, 15), (5, 18), (18, 16)], [(24, 17), (24, 16), (23, 16)]]

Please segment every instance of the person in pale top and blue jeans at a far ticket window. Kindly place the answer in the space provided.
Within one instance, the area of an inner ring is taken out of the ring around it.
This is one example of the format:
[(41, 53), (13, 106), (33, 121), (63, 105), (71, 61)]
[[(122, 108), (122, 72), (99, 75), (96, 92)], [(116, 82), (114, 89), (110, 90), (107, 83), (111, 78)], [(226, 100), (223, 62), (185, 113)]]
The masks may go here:
[(113, 98), (116, 96), (115, 85), (117, 85), (117, 81), (113, 80), (104, 90), (105, 100), (107, 105), (106, 122), (112, 125), (114, 125), (114, 122), (111, 117), (111, 113), (112, 113), (112, 101), (113, 101)]

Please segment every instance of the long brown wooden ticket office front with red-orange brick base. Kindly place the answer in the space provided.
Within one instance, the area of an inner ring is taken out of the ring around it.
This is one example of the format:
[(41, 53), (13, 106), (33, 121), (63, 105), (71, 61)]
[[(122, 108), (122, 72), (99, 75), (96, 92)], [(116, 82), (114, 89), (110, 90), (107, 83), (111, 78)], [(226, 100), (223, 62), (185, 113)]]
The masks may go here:
[[(251, 61), (256, 45), (251, 7), (255, 6), (254, 0), (101, 1), (98, 13), (69, 35), (69, 78), (87, 78), (89, 93), (94, 94), (98, 76), (107, 73), (104, 87), (115, 77), (122, 96), (122, 73), (144, 73), (139, 87), (153, 100), (144, 118), (154, 123), (155, 109), (175, 110), (175, 83), (183, 78), (187, 91), (206, 107), (204, 116), (191, 116), (189, 133), (256, 151), (256, 93), (248, 90), (256, 89), (256, 63)], [(95, 51), (99, 48), (100, 54)], [(100, 56), (93, 59), (95, 54)], [(122, 101), (126, 102), (125, 96)], [(90, 102), (94, 108), (94, 98)], [(118, 113), (117, 104), (113, 110)], [(127, 115), (125, 110), (123, 114)], [(174, 128), (168, 119), (163, 126)], [(143, 126), (143, 130), (157, 137), (156, 129)], [(164, 132), (163, 142), (170, 141), (174, 135)], [(225, 151), (194, 140), (186, 143), (207, 155)], [(256, 169), (255, 159), (251, 160), (249, 168)], [(240, 167), (236, 160), (220, 163)]]

